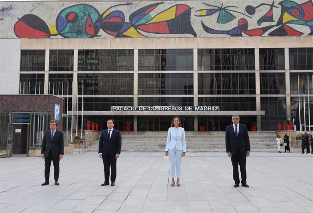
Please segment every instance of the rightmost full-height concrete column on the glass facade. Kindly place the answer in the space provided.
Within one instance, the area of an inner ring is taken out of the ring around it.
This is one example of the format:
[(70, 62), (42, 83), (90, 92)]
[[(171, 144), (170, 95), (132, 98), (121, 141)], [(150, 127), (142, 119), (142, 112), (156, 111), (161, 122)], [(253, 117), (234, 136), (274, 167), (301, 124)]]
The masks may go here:
[[(291, 118), (289, 48), (285, 48), (286, 120)], [(289, 127), (288, 127), (289, 128)]]

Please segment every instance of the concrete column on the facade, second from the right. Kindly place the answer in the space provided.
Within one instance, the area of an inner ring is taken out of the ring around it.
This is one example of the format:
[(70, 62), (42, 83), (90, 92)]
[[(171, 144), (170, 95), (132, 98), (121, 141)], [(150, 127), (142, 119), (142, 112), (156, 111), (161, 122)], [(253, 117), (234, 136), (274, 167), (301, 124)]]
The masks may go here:
[[(260, 53), (259, 48), (254, 49), (254, 64), (255, 64), (255, 95), (256, 95), (256, 110), (261, 111), (261, 92), (260, 92)], [(261, 116), (256, 117), (256, 125), (258, 131), (262, 129)]]

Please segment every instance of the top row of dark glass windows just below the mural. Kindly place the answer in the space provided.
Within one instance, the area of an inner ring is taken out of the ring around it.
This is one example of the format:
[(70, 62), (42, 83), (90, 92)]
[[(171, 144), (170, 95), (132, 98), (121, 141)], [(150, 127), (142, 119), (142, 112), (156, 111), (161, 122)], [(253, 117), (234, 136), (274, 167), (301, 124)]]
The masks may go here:
[[(73, 71), (73, 50), (50, 50), (49, 71)], [(285, 70), (284, 48), (260, 48), (260, 70)], [(290, 70), (313, 70), (313, 48), (289, 48)], [(193, 49), (139, 49), (139, 71), (193, 71)], [(253, 48), (198, 49), (199, 71), (255, 70)], [(45, 71), (45, 50), (21, 50), (21, 71)], [(78, 71), (134, 71), (134, 49), (80, 49)]]

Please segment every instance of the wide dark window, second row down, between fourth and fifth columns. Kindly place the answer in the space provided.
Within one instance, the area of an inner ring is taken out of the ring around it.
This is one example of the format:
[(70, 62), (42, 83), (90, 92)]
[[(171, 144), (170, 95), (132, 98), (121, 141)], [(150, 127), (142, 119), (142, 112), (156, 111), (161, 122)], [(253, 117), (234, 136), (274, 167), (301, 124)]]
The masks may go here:
[(198, 73), (199, 95), (255, 95), (254, 73)]

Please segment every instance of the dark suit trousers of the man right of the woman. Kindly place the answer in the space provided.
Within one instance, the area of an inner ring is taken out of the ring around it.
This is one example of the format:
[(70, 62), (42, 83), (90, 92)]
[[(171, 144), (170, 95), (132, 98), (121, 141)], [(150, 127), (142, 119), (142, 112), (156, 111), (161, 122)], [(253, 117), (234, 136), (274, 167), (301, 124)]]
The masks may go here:
[(238, 172), (238, 163), (240, 165), (240, 173), (241, 173), (241, 184), (246, 184), (246, 153), (241, 154), (239, 149), (237, 149), (236, 155), (232, 155), (231, 163), (233, 165), (233, 178), (235, 184), (239, 184), (239, 172)]

